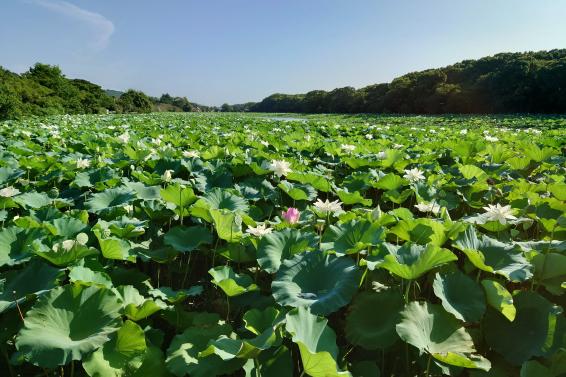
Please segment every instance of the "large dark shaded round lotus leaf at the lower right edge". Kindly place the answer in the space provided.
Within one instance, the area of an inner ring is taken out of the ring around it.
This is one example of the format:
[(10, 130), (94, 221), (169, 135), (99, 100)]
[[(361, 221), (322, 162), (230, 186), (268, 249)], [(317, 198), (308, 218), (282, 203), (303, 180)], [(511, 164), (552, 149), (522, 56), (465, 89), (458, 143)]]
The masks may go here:
[(564, 316), (544, 297), (522, 291), (513, 297), (513, 322), (494, 310), (483, 321), (486, 342), (505, 360), (520, 365), (534, 356), (546, 356), (563, 343)]

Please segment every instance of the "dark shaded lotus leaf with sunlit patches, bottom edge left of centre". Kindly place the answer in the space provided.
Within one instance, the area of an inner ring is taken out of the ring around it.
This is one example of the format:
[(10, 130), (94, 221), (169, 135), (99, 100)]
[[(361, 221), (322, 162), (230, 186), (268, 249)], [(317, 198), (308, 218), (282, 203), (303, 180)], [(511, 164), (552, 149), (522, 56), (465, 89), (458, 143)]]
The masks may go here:
[(209, 377), (229, 374), (239, 369), (241, 359), (222, 360), (217, 355), (199, 357), (199, 353), (208, 347), (211, 339), (229, 335), (232, 327), (228, 324), (202, 323), (186, 329), (173, 338), (167, 349), (165, 361), (167, 369), (175, 376)]

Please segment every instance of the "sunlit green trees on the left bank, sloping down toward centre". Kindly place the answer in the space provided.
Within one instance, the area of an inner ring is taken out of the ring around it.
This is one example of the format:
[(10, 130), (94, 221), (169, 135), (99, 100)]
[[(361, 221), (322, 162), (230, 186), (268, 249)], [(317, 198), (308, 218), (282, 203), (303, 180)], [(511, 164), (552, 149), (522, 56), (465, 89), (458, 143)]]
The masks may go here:
[(154, 98), (133, 89), (104, 90), (86, 80), (69, 79), (59, 67), (48, 64), (37, 63), (21, 75), (0, 67), (0, 120), (27, 115), (211, 110), (214, 108), (167, 93)]

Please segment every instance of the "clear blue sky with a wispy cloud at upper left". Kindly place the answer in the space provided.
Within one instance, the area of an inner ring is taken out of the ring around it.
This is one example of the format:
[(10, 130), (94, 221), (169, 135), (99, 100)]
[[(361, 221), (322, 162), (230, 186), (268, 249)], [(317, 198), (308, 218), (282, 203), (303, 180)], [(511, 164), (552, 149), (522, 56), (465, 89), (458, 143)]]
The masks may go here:
[(0, 65), (220, 105), (566, 48), (561, 0), (0, 0)]

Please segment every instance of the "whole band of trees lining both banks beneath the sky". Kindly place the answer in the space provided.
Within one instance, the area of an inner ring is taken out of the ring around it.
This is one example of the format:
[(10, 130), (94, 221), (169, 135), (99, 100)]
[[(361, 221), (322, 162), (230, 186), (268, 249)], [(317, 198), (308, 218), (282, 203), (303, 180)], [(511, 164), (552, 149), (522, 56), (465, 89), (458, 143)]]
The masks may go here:
[(564, 114), (566, 49), (501, 53), (412, 72), (360, 89), (276, 93), (260, 102), (205, 106), (165, 93), (105, 90), (37, 63), (16, 74), (0, 67), (0, 120), (28, 115), (267, 112), (329, 114)]

